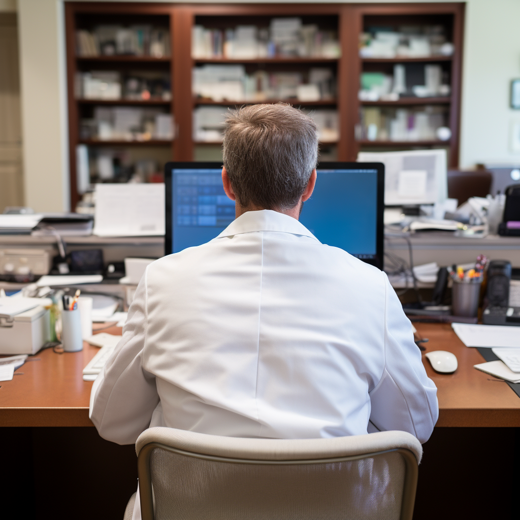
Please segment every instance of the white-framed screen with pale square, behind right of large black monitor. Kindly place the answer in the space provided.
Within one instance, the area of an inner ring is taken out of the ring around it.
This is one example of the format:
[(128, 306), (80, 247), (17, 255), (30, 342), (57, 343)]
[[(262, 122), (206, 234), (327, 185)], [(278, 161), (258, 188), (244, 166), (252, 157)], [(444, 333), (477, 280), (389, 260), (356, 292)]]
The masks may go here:
[(448, 198), (446, 150), (359, 152), (358, 162), (385, 165), (385, 205), (443, 203)]

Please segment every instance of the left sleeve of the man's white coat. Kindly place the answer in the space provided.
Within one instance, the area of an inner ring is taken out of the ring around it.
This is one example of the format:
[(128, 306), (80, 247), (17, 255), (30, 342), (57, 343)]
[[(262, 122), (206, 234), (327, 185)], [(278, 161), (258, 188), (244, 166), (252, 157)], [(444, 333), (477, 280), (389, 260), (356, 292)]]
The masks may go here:
[(147, 333), (147, 273), (142, 277), (123, 338), (90, 393), (90, 420), (101, 437), (118, 444), (133, 444), (150, 424), (159, 403), (155, 376), (143, 368)]

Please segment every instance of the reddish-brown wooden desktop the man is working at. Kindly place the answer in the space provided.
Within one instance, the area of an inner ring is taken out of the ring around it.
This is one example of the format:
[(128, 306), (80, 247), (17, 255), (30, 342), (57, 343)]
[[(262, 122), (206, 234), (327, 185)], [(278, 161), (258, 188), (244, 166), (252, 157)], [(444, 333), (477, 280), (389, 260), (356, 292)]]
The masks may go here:
[[(467, 348), (448, 324), (416, 323), (427, 350), (448, 350), (457, 356), (454, 374), (435, 373), (423, 356), (428, 376), (438, 388), (437, 426), (520, 426), (520, 398), (492, 376), (473, 368), (483, 358)], [(113, 327), (106, 332), (121, 334)], [(55, 354), (43, 350), (17, 372), (12, 381), (0, 382), (2, 426), (92, 426), (88, 404), (92, 382), (82, 379), (82, 370), (98, 352), (84, 344), (82, 352)]]

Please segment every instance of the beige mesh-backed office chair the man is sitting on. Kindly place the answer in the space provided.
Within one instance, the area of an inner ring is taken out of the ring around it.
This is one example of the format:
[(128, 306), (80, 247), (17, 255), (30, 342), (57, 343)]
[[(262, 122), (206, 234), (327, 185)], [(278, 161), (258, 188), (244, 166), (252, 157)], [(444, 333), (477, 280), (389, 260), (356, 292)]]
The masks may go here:
[(422, 447), (397, 431), (258, 439), (155, 427), (136, 452), (142, 520), (411, 520)]

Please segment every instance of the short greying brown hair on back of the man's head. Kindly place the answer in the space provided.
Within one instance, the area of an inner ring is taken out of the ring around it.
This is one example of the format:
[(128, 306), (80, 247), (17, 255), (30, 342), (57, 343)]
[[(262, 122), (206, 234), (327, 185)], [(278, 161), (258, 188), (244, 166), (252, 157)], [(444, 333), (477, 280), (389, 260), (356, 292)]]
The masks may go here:
[(226, 118), (224, 166), (243, 207), (296, 206), (317, 158), (316, 124), (289, 105), (242, 107)]

